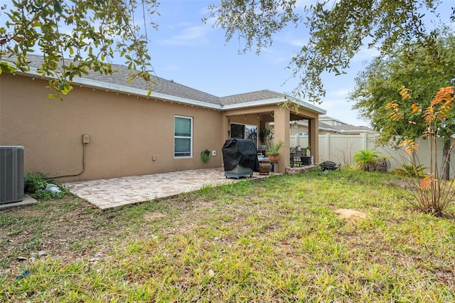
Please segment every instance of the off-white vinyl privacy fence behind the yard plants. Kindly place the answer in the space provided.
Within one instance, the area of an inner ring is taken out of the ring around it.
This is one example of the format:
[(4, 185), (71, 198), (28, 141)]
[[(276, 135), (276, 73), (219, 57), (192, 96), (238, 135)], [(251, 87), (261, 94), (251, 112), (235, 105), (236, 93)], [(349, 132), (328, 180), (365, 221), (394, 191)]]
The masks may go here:
[[(390, 156), (390, 169), (396, 169), (402, 163), (410, 164), (410, 157), (404, 149), (393, 149), (392, 147), (378, 147), (375, 144), (374, 134), (320, 134), (319, 135), (319, 162), (333, 161), (342, 165), (355, 165), (353, 155), (360, 149), (375, 149), (383, 156)], [(301, 148), (308, 146), (308, 136), (291, 135), (291, 147)], [(420, 164), (429, 167), (430, 152), (426, 139), (419, 139), (418, 159)], [(437, 138), (437, 164), (442, 166), (443, 139)], [(451, 152), (451, 168), (455, 167), (455, 150)], [(451, 176), (454, 176), (451, 169)]]

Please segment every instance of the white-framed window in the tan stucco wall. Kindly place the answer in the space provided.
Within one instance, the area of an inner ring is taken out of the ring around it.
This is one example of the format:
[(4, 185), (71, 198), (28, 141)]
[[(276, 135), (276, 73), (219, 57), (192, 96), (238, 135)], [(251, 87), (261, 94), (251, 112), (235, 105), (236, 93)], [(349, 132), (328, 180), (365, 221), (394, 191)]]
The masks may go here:
[(175, 116), (173, 129), (173, 156), (193, 156), (193, 118)]

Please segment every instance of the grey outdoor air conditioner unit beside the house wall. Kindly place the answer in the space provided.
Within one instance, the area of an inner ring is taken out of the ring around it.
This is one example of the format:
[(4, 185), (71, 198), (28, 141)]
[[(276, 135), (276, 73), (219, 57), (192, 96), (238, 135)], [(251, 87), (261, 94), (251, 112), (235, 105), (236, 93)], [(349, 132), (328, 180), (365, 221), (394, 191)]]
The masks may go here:
[(0, 204), (23, 200), (23, 147), (0, 146)]

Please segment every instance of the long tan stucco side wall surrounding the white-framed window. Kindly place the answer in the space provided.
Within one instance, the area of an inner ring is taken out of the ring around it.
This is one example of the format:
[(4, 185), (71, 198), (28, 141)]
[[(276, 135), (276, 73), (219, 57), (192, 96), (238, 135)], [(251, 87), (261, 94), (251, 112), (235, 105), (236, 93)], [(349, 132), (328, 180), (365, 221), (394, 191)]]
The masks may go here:
[[(77, 181), (222, 165), (224, 113), (175, 102), (74, 87), (65, 101), (48, 99), (45, 80), (0, 75), (0, 145), (24, 147), (25, 171)], [(14, 89), (11, 89), (14, 87)], [(174, 115), (193, 117), (193, 157), (174, 159)], [(207, 164), (203, 149), (215, 150)], [(152, 160), (155, 159), (155, 160)]]

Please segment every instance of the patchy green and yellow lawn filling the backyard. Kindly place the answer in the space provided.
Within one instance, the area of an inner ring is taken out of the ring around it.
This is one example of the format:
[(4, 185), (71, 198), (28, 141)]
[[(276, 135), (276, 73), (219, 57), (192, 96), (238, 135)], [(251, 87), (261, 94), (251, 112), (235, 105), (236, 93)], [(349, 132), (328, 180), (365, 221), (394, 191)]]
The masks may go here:
[(415, 212), (397, 182), (312, 171), (2, 211), (0, 302), (454, 302), (455, 219)]

